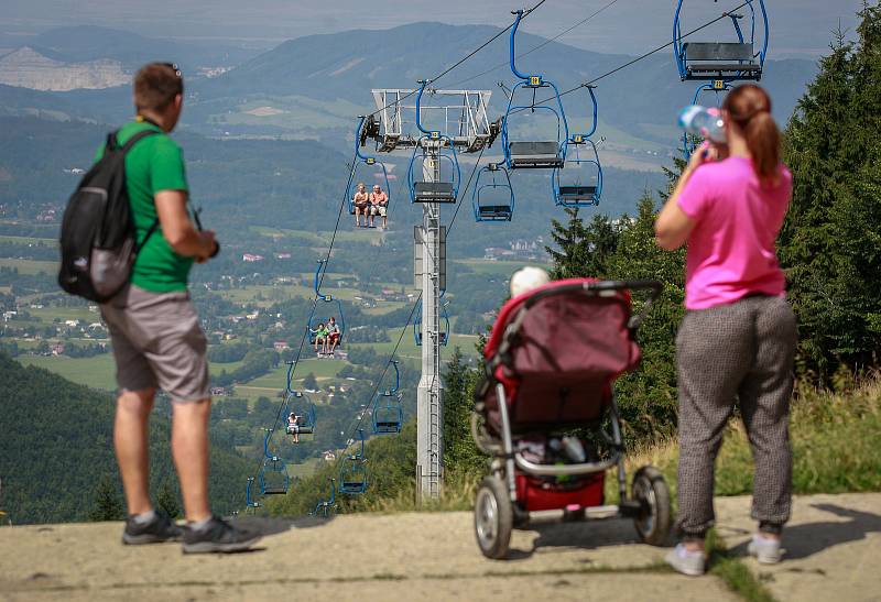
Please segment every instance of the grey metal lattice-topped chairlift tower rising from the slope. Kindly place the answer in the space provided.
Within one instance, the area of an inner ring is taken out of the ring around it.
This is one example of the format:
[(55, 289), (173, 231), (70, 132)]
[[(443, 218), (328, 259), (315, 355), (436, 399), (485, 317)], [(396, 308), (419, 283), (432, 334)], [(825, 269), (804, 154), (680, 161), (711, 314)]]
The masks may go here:
[[(444, 387), (440, 379), (440, 296), (446, 289), (446, 229), (440, 204), (456, 203), (458, 186), (447, 187), (445, 150), (472, 153), (492, 143), (498, 128), (489, 123), (489, 90), (374, 89), (376, 116), (367, 124), (377, 150), (411, 149), (421, 161), (411, 185), (411, 201), (421, 203), (422, 226), (415, 228), (415, 283), (422, 288), (422, 376), (416, 399), (416, 488), (420, 501), (440, 495), (444, 479)], [(431, 130), (423, 127), (429, 123)], [(428, 134), (428, 135), (426, 135)], [(456, 169), (458, 169), (458, 164)], [(448, 333), (447, 333), (448, 336)]]

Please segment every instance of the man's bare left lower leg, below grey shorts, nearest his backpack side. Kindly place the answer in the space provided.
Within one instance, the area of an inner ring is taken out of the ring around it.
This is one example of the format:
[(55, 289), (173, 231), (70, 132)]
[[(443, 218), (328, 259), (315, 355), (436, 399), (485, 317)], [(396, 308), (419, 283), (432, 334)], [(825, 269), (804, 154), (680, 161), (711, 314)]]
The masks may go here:
[(129, 514), (143, 514), (153, 510), (150, 503), (148, 426), (154, 395), (154, 388), (123, 390), (117, 399), (113, 446)]

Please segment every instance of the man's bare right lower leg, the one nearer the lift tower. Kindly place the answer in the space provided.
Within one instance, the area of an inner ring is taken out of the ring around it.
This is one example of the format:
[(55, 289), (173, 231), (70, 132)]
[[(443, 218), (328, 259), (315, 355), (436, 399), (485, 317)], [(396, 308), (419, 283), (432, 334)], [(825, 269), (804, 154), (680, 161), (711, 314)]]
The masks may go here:
[(172, 453), (189, 522), (211, 516), (208, 507), (208, 418), (211, 401), (174, 404)]

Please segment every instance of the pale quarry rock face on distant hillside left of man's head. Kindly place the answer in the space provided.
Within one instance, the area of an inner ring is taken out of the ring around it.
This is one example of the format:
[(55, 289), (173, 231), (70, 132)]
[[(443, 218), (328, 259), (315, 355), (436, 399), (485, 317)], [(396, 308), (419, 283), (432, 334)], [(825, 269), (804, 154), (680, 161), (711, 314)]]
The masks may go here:
[(29, 46), (0, 58), (0, 84), (44, 91), (101, 89), (131, 83), (119, 61), (62, 63)]

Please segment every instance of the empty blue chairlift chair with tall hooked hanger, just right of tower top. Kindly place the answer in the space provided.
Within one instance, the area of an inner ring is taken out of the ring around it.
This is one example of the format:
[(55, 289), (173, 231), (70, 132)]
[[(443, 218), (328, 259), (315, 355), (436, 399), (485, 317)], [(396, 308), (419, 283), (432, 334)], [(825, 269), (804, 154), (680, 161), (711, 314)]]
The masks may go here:
[[(563, 101), (559, 98), (559, 90), (553, 81), (545, 79), (542, 75), (524, 74), (518, 70), (515, 39), (524, 11), (512, 11), (511, 14), (516, 15), (510, 36), (511, 72), (520, 81), (511, 89), (511, 95), (508, 97), (508, 109), (504, 111), (504, 118), (502, 119), (501, 134), (504, 164), (509, 169), (553, 169), (563, 167), (563, 162), (566, 158), (566, 145), (569, 139), (569, 128), (566, 122), (566, 113), (563, 110)], [(544, 105), (545, 99), (536, 102), (536, 95), (542, 94), (542, 90), (552, 90), (554, 92), (550, 100), (555, 100), (556, 108)], [(529, 98), (529, 101), (519, 100), (520, 97), (524, 96)], [(553, 118), (556, 121), (556, 132), (547, 132), (546, 136), (537, 141), (515, 140), (515, 133), (512, 129), (521, 120), (526, 121), (525, 117), (521, 119), (515, 116), (523, 113)], [(512, 118), (514, 118), (513, 121)]]

